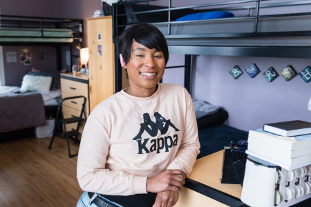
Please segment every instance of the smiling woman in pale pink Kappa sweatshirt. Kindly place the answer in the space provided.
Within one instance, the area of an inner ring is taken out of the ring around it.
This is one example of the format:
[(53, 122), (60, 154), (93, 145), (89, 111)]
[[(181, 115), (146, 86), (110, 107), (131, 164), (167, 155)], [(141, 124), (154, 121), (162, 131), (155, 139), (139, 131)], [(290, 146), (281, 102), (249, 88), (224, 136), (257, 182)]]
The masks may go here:
[[(182, 86), (158, 83), (169, 60), (158, 28), (131, 26), (118, 52), (130, 87), (88, 117), (77, 162), (86, 192), (77, 206), (174, 206), (200, 148), (191, 96)], [(169, 121), (165, 133), (159, 119)]]

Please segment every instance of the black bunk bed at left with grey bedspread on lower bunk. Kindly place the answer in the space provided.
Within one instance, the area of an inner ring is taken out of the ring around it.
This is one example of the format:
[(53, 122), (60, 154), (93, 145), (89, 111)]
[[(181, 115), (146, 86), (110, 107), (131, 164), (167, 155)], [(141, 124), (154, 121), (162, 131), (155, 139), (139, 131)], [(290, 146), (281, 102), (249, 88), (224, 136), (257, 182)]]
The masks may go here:
[[(50, 73), (57, 74), (58, 77), (53, 77), (53, 81), (60, 81), (62, 47), (70, 47), (70, 68), (72, 68), (74, 61), (77, 62), (79, 57), (73, 53), (75, 48), (82, 48), (83, 37), (82, 19), (0, 15), (0, 46), (53, 46), (56, 49), (58, 72)], [(35, 75), (36, 72), (30, 73), (28, 75)], [(50, 76), (44, 72), (38, 73)], [(55, 98), (59, 98), (59, 91), (51, 90), (40, 94), (21, 92), (20, 88), (15, 86), (1, 86), (0, 102), (3, 106), (1, 106), (0, 141), (12, 140), (23, 135), (33, 136), (33, 127), (45, 124), (45, 113), (50, 112), (52, 115), (56, 113)], [(19, 130), (16, 134), (10, 133), (16, 130)]]

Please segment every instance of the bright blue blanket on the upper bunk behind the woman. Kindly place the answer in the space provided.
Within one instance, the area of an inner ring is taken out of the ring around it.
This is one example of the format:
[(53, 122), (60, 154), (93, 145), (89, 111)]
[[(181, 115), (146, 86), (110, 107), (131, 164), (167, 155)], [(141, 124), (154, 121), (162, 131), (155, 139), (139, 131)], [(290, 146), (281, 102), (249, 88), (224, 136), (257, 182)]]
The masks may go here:
[(234, 17), (232, 12), (204, 12), (197, 14), (188, 14), (185, 17), (180, 17), (176, 21), (189, 21), (189, 20), (198, 20), (198, 19), (219, 19), (219, 18), (228, 18)]

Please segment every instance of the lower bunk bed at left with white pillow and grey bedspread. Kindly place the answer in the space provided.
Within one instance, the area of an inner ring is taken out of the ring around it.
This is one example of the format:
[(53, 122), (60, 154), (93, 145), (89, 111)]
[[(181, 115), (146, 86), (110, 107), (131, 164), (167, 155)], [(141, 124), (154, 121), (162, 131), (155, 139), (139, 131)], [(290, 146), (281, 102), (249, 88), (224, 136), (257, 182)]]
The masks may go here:
[(57, 106), (62, 99), (59, 79), (60, 71), (32, 71), (21, 87), (1, 86), (0, 132), (46, 124), (45, 106)]

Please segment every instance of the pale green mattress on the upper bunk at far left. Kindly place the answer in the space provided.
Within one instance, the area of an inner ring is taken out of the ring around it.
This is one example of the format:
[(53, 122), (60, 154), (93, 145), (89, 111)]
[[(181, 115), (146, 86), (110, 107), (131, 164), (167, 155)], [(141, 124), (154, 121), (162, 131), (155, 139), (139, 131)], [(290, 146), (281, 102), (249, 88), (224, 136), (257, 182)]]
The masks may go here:
[(72, 32), (69, 29), (43, 29), (44, 38), (41, 38), (41, 29), (0, 28), (0, 41), (71, 43)]

